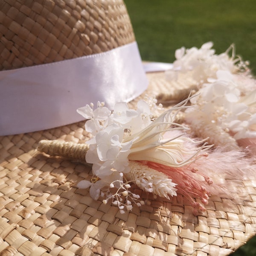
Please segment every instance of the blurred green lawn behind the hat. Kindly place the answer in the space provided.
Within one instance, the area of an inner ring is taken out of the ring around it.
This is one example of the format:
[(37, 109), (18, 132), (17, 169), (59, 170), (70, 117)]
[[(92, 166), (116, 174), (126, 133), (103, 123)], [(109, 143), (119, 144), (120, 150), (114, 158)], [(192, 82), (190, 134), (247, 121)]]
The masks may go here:
[[(255, 0), (125, 0), (143, 60), (173, 62), (175, 49), (236, 44), (256, 75)], [(256, 237), (232, 256), (255, 256)]]

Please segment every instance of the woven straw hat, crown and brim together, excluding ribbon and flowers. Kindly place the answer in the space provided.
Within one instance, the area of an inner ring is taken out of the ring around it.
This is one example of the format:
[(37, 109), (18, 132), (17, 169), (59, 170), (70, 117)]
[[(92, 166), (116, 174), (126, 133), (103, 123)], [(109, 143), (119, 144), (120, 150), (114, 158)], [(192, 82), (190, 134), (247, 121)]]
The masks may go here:
[[(6, 0), (0, 17), (1, 70), (108, 52), (135, 40), (121, 0)], [(131, 108), (146, 93), (161, 99), (187, 94), (181, 80), (170, 88), (163, 72), (147, 78), (148, 89)], [(90, 167), (37, 149), (41, 140), (84, 143), (90, 137), (84, 122), (0, 137), (0, 255), (224, 256), (256, 233), (256, 179), (240, 181), (233, 199), (212, 195), (197, 216), (179, 194), (155, 198), (133, 186), (150, 204), (121, 213), (77, 188), (91, 179)]]

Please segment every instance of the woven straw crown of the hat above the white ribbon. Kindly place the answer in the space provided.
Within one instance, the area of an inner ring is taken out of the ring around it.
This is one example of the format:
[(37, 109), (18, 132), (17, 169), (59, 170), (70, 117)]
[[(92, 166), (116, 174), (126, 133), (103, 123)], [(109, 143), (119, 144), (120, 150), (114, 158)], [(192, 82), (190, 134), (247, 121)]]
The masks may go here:
[(0, 70), (105, 52), (133, 41), (122, 0), (0, 1)]

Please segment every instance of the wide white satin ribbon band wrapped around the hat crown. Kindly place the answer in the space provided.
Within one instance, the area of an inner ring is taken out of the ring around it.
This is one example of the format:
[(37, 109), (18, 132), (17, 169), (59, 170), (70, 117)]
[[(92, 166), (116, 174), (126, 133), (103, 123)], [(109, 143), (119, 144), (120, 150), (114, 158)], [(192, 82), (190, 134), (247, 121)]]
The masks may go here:
[(90, 102), (129, 102), (147, 88), (137, 43), (51, 64), (0, 72), (0, 135), (79, 122)]

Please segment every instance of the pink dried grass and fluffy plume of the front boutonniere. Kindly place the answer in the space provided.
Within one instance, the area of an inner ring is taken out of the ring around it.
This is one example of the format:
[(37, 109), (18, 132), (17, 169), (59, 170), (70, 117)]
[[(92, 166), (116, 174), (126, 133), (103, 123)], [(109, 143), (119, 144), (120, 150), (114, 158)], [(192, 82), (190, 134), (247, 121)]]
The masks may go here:
[[(242, 180), (249, 179), (256, 170), (253, 159), (240, 151), (223, 152), (221, 148), (204, 152), (187, 166), (170, 167), (160, 163), (141, 161), (144, 165), (164, 173), (176, 183), (177, 193), (188, 199), (194, 208), (205, 211), (209, 196), (232, 198)], [(201, 204), (195, 201), (201, 200)]]

